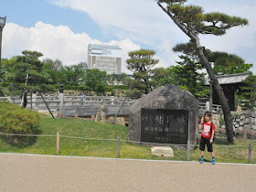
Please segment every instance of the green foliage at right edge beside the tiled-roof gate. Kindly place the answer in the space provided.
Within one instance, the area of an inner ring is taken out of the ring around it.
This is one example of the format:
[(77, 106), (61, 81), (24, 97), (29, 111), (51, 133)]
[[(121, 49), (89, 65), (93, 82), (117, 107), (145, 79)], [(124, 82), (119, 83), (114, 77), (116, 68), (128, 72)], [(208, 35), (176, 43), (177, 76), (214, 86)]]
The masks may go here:
[(240, 88), (240, 104), (244, 110), (251, 110), (256, 106), (256, 76), (251, 74), (243, 83), (244, 86)]

